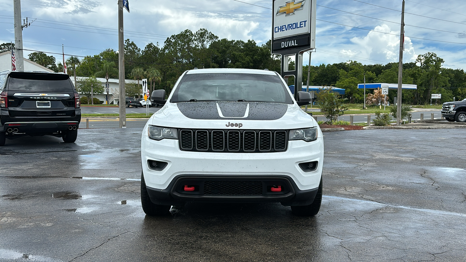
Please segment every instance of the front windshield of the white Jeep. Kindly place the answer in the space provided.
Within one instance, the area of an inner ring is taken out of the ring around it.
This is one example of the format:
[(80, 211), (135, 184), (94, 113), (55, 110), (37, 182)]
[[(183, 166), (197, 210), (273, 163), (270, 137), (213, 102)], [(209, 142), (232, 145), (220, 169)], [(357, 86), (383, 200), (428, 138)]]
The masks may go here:
[(276, 75), (186, 74), (170, 102), (197, 101), (293, 103), (287, 87)]

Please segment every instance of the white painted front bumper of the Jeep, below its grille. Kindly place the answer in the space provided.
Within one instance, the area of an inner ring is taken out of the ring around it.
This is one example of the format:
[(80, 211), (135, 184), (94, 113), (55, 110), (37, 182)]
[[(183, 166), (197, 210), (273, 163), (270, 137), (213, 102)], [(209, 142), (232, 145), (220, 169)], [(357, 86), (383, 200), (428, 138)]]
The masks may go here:
[[(163, 170), (149, 168), (148, 160), (168, 163)], [(317, 161), (315, 171), (304, 172), (299, 164)], [(171, 191), (179, 176), (231, 176), (236, 178), (281, 177), (296, 192), (318, 188), (322, 176), (323, 138), (312, 142), (288, 142), (285, 152), (228, 153), (186, 152), (179, 150), (177, 139), (156, 141), (147, 136), (141, 140), (141, 162), (146, 186), (155, 191)]]

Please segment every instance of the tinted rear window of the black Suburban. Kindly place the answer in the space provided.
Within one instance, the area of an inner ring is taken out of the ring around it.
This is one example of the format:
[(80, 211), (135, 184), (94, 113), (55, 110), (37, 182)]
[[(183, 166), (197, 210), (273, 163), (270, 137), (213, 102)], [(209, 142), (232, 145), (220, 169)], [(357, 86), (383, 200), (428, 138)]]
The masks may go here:
[(68, 75), (10, 74), (8, 90), (38, 92), (74, 92)]

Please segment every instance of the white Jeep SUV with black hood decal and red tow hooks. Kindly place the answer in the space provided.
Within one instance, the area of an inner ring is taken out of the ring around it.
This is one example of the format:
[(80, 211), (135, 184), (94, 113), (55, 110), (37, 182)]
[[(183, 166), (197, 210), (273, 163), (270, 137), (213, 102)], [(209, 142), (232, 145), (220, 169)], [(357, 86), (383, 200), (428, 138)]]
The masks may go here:
[(186, 202), (281, 202), (318, 213), (322, 131), (279, 74), (194, 69), (178, 79), (149, 119), (141, 141), (141, 202), (148, 215)]

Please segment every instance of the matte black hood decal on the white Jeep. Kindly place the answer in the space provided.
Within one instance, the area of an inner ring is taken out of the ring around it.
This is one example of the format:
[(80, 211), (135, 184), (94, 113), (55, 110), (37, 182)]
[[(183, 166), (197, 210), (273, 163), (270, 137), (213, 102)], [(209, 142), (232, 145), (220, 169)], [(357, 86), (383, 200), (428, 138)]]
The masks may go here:
[(288, 104), (255, 102), (186, 102), (177, 106), (191, 119), (276, 120), (288, 110)]

